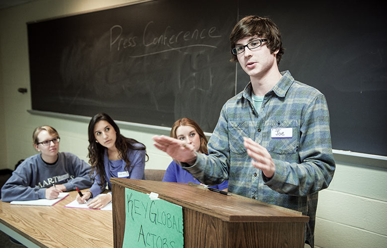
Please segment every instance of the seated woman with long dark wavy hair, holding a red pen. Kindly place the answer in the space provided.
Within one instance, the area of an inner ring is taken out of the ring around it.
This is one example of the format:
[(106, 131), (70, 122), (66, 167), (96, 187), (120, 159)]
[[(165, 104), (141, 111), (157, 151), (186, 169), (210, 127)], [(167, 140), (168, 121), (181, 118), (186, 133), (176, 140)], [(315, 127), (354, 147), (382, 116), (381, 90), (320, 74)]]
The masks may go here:
[[(95, 115), (89, 123), (89, 163), (94, 172), (94, 183), (90, 190), (77, 195), (79, 203), (97, 196), (108, 184), (110, 178), (144, 179), (145, 145), (120, 133), (120, 128), (113, 119), (105, 113)], [(108, 193), (91, 200), (90, 208), (103, 208), (112, 200)]]

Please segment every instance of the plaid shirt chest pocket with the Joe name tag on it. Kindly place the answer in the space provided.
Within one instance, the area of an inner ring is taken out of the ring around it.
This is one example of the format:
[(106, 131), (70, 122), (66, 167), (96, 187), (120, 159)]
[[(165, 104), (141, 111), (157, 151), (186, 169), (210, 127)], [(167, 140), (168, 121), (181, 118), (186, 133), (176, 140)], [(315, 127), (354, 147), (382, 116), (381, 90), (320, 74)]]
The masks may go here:
[(298, 152), (300, 128), (298, 120), (271, 120), (268, 151), (276, 154)]

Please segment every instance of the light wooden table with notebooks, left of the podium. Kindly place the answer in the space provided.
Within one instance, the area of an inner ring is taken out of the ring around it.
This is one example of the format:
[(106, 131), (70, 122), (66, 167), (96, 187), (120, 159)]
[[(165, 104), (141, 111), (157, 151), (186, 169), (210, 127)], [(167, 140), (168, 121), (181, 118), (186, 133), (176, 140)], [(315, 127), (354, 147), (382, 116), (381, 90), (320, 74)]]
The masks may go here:
[(54, 206), (0, 201), (0, 230), (27, 247), (112, 248), (112, 211), (64, 207), (77, 194), (69, 193)]

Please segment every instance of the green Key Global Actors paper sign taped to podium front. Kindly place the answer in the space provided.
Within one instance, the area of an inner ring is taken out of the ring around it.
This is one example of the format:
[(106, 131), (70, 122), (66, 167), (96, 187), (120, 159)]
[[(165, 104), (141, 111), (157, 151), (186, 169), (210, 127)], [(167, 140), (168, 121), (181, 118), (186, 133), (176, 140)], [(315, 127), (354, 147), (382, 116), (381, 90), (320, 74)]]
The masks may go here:
[(184, 247), (181, 206), (130, 188), (125, 203), (123, 247)]

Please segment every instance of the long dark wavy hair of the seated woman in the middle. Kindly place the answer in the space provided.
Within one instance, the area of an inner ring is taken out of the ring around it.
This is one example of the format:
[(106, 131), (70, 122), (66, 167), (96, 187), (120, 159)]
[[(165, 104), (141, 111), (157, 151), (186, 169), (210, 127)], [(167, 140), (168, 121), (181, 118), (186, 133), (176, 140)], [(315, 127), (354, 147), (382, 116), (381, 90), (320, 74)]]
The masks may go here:
[[(105, 113), (99, 113), (93, 116), (91, 118), (89, 127), (88, 127), (88, 133), (89, 133), (89, 147), (87, 148), (89, 150), (89, 153), (87, 157), (89, 158), (89, 163), (92, 166), (92, 175), (94, 174), (94, 171), (100, 176), (101, 182), (100, 186), (101, 188), (104, 188), (106, 186), (107, 179), (105, 178), (105, 166), (104, 166), (104, 153), (105, 153), (105, 147), (101, 145), (100, 143), (96, 142), (95, 136), (94, 136), (94, 126), (100, 121), (106, 121), (109, 124), (111, 124), (116, 131), (116, 148), (118, 149), (119, 156), (127, 163), (125, 166), (125, 170), (129, 171), (130, 168), (130, 161), (128, 158), (128, 149), (132, 150), (146, 150), (146, 147), (144, 144), (138, 142), (135, 139), (127, 138), (123, 136), (120, 132), (120, 128), (118, 125), (113, 121), (113, 119)], [(135, 144), (141, 144), (141, 146)], [(145, 151), (146, 160), (148, 161), (149, 157), (148, 154), (146, 154)]]

